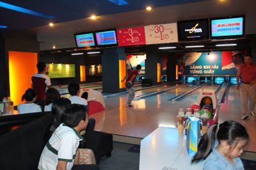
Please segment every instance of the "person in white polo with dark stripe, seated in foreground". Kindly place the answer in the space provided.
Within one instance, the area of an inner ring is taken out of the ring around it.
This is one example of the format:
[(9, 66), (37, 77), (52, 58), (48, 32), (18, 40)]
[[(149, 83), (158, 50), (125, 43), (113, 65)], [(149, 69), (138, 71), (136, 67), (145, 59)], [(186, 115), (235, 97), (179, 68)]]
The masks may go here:
[[(80, 169), (83, 166), (86, 167), (85, 169), (99, 169), (96, 165), (78, 165), (80, 153), (77, 147), (82, 139), (79, 132), (88, 124), (88, 115), (84, 113), (86, 108), (80, 104), (71, 104), (65, 108), (62, 117), (64, 124), (60, 124), (45, 145), (38, 169)], [(92, 152), (88, 155), (88, 160), (83, 163), (95, 163), (95, 157), (94, 160), (93, 157)]]

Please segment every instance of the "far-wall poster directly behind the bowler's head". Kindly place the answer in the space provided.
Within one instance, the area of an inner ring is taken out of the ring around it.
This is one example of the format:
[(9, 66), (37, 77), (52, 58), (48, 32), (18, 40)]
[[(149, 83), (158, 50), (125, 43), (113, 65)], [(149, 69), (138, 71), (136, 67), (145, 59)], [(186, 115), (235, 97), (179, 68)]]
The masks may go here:
[(145, 76), (145, 59), (146, 55), (127, 55), (126, 56), (126, 70), (129, 74), (133, 69), (136, 69), (138, 64), (141, 65), (141, 71), (138, 76)]

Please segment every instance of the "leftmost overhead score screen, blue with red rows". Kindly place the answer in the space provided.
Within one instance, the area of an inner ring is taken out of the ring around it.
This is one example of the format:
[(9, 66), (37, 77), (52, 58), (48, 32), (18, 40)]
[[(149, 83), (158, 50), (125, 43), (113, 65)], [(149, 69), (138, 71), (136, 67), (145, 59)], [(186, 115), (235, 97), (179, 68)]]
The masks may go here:
[(77, 47), (95, 46), (93, 32), (86, 34), (76, 34)]

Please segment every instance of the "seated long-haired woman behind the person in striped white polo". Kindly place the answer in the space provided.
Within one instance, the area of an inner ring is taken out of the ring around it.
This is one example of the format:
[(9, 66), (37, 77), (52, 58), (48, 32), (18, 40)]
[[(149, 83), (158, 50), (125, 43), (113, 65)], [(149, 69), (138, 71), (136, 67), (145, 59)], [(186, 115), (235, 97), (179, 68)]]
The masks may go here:
[[(71, 101), (67, 98), (56, 99), (52, 102), (52, 114), (54, 115), (54, 120), (52, 120), (51, 124), (45, 131), (45, 145), (51, 138), (53, 132), (64, 122), (63, 112), (67, 106), (70, 106), (70, 104)], [(79, 165), (82, 164), (96, 164), (95, 155), (92, 150), (79, 149)]]

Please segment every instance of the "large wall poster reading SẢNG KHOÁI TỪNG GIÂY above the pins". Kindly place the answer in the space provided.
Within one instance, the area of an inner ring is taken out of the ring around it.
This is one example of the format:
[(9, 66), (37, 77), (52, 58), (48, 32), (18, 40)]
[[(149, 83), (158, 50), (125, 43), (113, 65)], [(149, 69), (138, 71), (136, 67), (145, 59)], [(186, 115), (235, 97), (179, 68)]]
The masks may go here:
[(230, 52), (182, 53), (177, 55), (179, 74), (189, 75), (236, 75), (244, 64), (246, 50)]

